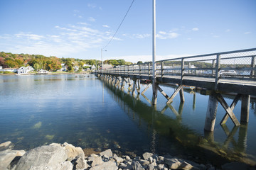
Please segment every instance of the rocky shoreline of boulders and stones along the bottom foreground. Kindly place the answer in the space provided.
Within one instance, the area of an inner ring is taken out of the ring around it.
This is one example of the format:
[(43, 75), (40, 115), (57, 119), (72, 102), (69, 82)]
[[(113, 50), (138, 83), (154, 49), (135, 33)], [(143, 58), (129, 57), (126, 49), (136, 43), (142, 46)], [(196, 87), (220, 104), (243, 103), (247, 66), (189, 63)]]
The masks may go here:
[[(113, 154), (107, 149), (99, 154), (90, 154), (85, 157), (81, 147), (68, 144), (52, 143), (36, 147), (29, 151), (13, 150), (13, 143), (0, 144), (0, 170), (169, 170), (169, 169), (193, 169), (214, 170), (218, 169), (211, 164), (197, 164), (196, 162), (171, 157), (170, 155), (159, 156), (145, 152), (142, 157), (129, 157), (128, 155)], [(250, 169), (250, 165), (231, 162), (221, 166), (223, 170)]]

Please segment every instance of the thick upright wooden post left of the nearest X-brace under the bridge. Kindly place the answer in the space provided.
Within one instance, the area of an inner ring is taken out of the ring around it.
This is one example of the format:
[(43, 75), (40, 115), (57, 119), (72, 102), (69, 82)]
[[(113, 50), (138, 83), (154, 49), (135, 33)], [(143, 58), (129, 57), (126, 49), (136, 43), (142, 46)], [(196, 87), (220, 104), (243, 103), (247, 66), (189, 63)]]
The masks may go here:
[(214, 130), (217, 108), (218, 108), (217, 98), (215, 98), (215, 96), (213, 95), (210, 95), (208, 99), (208, 107), (206, 111), (206, 122), (205, 122), (205, 128), (204, 128), (207, 131)]

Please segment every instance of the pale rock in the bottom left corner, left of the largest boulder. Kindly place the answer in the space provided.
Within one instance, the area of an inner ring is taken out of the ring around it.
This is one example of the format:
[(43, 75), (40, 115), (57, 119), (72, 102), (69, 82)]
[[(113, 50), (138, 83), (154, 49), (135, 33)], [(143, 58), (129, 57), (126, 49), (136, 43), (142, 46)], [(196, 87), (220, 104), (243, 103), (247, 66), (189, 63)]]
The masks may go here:
[(24, 150), (5, 150), (0, 152), (0, 169), (6, 169), (15, 157), (25, 154)]

